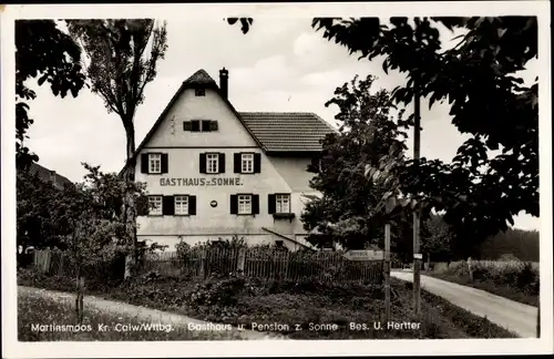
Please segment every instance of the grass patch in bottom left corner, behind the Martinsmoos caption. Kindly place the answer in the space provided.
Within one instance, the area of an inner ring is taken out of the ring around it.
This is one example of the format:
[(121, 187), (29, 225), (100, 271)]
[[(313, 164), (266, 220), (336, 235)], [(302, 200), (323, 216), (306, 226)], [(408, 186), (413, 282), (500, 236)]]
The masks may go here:
[[(18, 294), (19, 341), (143, 341), (143, 340), (208, 340), (206, 332), (191, 331), (185, 327), (161, 325), (158, 330), (147, 330), (137, 316), (101, 312), (84, 308), (82, 325), (75, 321), (74, 307), (52, 298), (33, 294)], [(55, 327), (53, 327), (53, 326)], [(141, 327), (143, 325), (143, 327)], [(156, 325), (156, 324), (154, 324)], [(76, 327), (72, 330), (72, 327)], [(42, 329), (42, 330), (41, 330)], [(152, 329), (152, 328), (151, 328)]]

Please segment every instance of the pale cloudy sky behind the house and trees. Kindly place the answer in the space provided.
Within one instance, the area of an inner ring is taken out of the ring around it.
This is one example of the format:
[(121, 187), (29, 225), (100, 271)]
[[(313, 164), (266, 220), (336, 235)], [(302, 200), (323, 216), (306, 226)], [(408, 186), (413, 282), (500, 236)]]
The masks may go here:
[[(199, 69), (218, 82), (218, 71), (229, 71), (229, 101), (237, 111), (315, 112), (329, 123), (338, 107), (326, 107), (337, 86), (356, 74), (378, 79), (373, 90), (403, 83), (403, 75), (382, 71), (382, 60), (358, 60), (346, 48), (316, 32), (310, 18), (257, 18), (247, 34), (222, 18), (167, 21), (167, 52), (158, 63), (156, 79), (146, 85), (145, 101), (135, 116), (136, 144), (157, 120), (181, 83)], [(445, 47), (459, 33), (440, 29)], [(450, 40), (450, 41), (449, 41)], [(522, 73), (526, 81), (537, 75), (531, 63)], [(125, 134), (116, 114), (109, 114), (98, 95), (83, 89), (76, 99), (55, 98), (49, 88), (38, 86), (30, 103), (34, 123), (25, 144), (40, 156), (43, 166), (82, 181), (81, 162), (119, 172), (125, 160)], [(412, 110), (407, 109), (408, 113)], [(421, 156), (450, 162), (466, 139), (451, 124), (448, 105), (422, 102)], [(409, 139), (409, 153), (412, 139)], [(538, 229), (538, 218), (520, 215), (515, 227)]]

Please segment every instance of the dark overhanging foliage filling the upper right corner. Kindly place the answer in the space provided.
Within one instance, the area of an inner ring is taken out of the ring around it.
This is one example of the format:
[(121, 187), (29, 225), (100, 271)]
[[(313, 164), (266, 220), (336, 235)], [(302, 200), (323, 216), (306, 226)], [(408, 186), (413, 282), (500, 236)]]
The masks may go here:
[[(318, 18), (312, 25), (360, 59), (382, 57), (384, 71), (406, 73), (397, 101), (412, 102), (414, 91), (430, 106), (449, 100), (452, 123), (470, 140), (451, 164), (422, 158), (394, 175), (403, 193), (445, 211), (458, 250), (470, 255), (521, 211), (538, 215), (537, 84), (516, 73), (536, 58), (536, 18)], [(442, 49), (440, 25), (465, 31), (456, 47)], [(489, 157), (490, 150), (502, 153)]]

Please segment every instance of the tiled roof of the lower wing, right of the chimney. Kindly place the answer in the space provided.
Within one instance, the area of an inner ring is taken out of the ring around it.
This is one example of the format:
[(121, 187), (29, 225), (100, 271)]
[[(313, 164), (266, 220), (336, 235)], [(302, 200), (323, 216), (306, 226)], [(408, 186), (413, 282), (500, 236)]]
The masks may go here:
[(337, 130), (310, 112), (240, 112), (267, 152), (321, 151), (320, 141)]

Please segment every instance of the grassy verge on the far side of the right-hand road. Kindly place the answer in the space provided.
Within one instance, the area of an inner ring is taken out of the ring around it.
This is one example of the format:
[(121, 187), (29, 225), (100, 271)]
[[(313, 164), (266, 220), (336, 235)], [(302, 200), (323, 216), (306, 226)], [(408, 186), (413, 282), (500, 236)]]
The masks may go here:
[(428, 271), (425, 275), (485, 290), (496, 296), (538, 307), (538, 267), (521, 261), (474, 260), (473, 280), (468, 265), (452, 263), (443, 271)]

